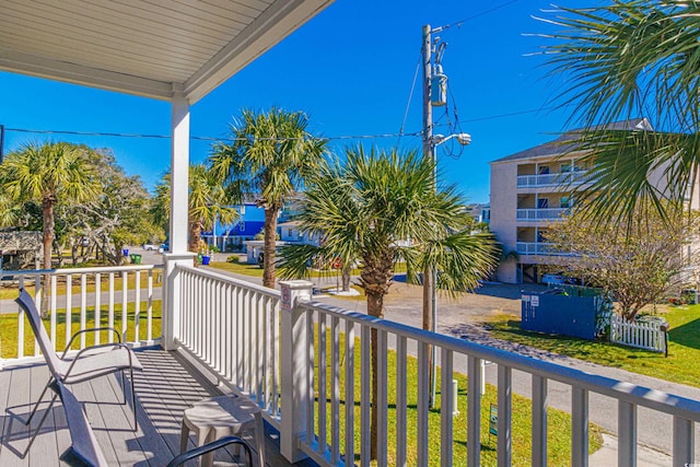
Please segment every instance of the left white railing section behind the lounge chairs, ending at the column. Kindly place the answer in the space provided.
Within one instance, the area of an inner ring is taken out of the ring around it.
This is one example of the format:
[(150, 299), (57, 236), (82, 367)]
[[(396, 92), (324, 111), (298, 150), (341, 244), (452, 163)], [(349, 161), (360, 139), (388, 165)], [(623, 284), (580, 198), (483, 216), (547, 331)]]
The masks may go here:
[[(49, 278), (50, 294), (47, 293), (44, 277)], [(86, 327), (95, 327), (89, 326), (88, 323), (102, 323), (105, 318), (107, 326), (119, 330), (124, 342), (132, 347), (154, 343), (160, 338), (160, 332), (153, 328), (153, 301), (156, 300), (154, 295), (156, 292), (160, 297), (160, 290), (156, 290), (156, 287), (160, 285), (161, 277), (161, 266), (133, 265), (80, 269), (3, 270), (0, 283), (5, 290), (25, 288), (35, 296), (39, 310), (43, 308), (42, 302), (48, 300), (48, 334), (55, 348), (62, 350), (73, 332)], [(131, 281), (133, 284), (130, 284)], [(36, 342), (31, 354), (27, 355), (25, 352), (26, 338), (31, 332), (27, 334), (25, 329), (24, 311), (11, 300), (3, 301), (0, 311), (2, 314), (16, 313), (18, 319), (16, 352), (11, 352), (13, 357), (5, 359), (5, 362), (38, 357), (40, 352)], [(75, 314), (78, 323), (73, 323)], [(128, 325), (130, 316), (133, 325)], [(141, 323), (143, 319), (145, 319), (144, 323)], [(72, 326), (63, 326), (65, 337), (58, 336), (57, 332), (57, 323), (61, 322), (72, 323)], [(142, 326), (145, 329), (142, 329)], [(114, 341), (114, 334), (109, 332), (105, 336), (108, 342)], [(80, 349), (98, 345), (101, 332), (92, 332), (91, 341), (89, 337), (89, 334), (81, 335)]]

